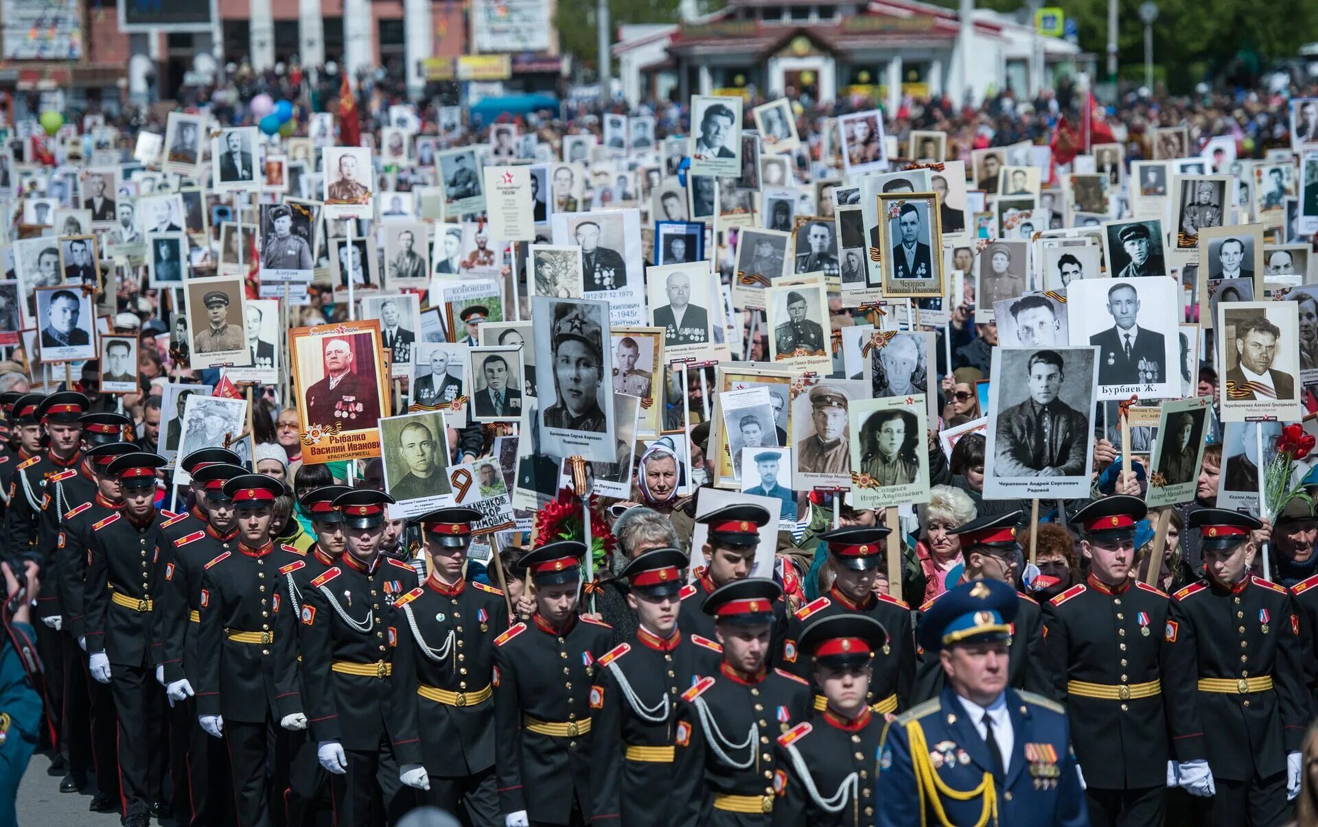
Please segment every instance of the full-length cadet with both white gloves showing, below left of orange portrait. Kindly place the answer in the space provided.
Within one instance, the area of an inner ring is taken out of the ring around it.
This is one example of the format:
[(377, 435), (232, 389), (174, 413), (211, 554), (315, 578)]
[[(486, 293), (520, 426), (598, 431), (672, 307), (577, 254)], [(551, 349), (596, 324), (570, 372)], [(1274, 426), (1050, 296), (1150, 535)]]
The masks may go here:
[(297, 681), (294, 619), (278, 578), (295, 556), (270, 541), (274, 498), (283, 491), (282, 482), (265, 474), (228, 479), (221, 494), (237, 512), (237, 543), (202, 568), (196, 716), (207, 735), (228, 745), (243, 827), (270, 824), (266, 765), (286, 757), (269, 755), (269, 727), (274, 722), (285, 730), (307, 726)]

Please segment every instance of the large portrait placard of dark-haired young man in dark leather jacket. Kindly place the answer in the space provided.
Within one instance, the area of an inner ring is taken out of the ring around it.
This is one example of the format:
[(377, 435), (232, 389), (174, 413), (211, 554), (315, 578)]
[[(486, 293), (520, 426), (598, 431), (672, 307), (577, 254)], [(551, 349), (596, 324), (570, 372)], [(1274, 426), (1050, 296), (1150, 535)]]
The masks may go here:
[(994, 348), (991, 371), (985, 496), (1086, 496), (1095, 349)]

